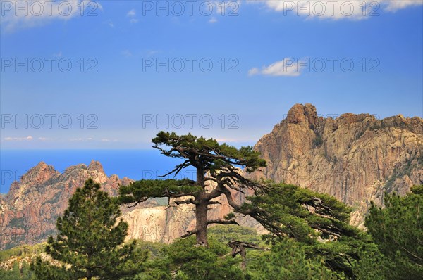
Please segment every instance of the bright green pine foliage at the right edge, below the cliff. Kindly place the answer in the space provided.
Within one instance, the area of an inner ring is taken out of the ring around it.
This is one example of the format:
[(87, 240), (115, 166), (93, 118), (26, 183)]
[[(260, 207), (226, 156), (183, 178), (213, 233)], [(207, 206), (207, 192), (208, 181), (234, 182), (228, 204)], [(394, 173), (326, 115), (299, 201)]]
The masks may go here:
[(423, 185), (400, 197), (385, 196), (385, 208), (372, 204), (365, 225), (388, 260), (386, 279), (423, 278)]

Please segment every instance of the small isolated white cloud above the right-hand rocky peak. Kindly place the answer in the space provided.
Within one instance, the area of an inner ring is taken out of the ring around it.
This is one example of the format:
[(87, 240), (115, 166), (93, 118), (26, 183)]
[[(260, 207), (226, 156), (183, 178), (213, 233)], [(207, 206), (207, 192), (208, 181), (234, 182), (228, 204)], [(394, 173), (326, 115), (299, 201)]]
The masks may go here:
[(259, 68), (252, 68), (248, 71), (249, 76), (259, 74), (276, 77), (296, 77), (299, 76), (301, 72), (300, 69), (298, 69), (298, 61), (284, 58), (282, 61), (276, 61), (269, 66), (263, 66), (261, 70), (259, 70)]

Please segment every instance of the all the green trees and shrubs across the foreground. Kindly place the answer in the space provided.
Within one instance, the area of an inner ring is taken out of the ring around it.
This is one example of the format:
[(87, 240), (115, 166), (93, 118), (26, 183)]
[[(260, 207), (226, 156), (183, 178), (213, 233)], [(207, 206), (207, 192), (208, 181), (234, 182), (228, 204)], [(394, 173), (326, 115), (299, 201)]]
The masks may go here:
[[(89, 179), (57, 220), (59, 234), (49, 237), (45, 248), (55, 262), (33, 257), (30, 269), (25, 262), (16, 262), (11, 270), (0, 269), (0, 279), (423, 278), (423, 186), (413, 187), (403, 197), (386, 193), (384, 208), (372, 205), (365, 223), (368, 230), (362, 231), (349, 224), (351, 208), (336, 198), (290, 184), (243, 178), (233, 164), (252, 170), (264, 165), (250, 148), (238, 150), (212, 139), (165, 133), (155, 141), (169, 144), (175, 150), (161, 151), (176, 158), (198, 153), (197, 181), (141, 180), (121, 186), (121, 196), (113, 199)], [(179, 153), (187, 147), (186, 154)], [(178, 153), (173, 155), (174, 151)], [(176, 172), (188, 163), (178, 165)], [(209, 176), (204, 176), (206, 171)], [(217, 191), (204, 189), (208, 179), (217, 184)], [(254, 194), (237, 205), (226, 188), (233, 192), (250, 188)], [(187, 203), (203, 211), (202, 206), (213, 203), (211, 197), (221, 194), (233, 208), (223, 220), (206, 219), (204, 228), (197, 227), (169, 245), (123, 242), (128, 224), (119, 219), (118, 203), (191, 196)], [(180, 203), (184, 201), (176, 205)], [(259, 236), (240, 227), (237, 215), (249, 215), (268, 234)], [(0, 260), (39, 253), (41, 246), (0, 252)]]

